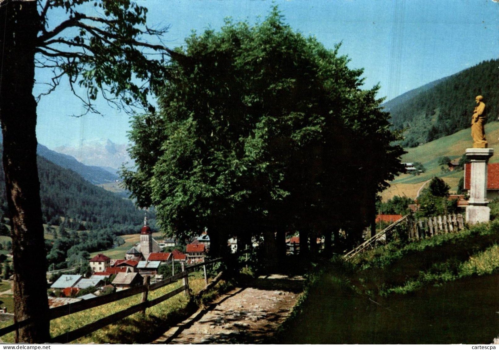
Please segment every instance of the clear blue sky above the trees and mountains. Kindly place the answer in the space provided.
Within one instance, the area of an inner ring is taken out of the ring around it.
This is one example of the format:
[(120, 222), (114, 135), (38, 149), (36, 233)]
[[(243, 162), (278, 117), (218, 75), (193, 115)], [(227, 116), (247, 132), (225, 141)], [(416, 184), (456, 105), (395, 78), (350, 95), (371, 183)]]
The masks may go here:
[[(194, 29), (219, 29), (224, 18), (255, 23), (269, 12), (264, 0), (139, 0), (150, 24), (170, 24), (169, 47)], [(392, 99), (436, 79), (499, 56), (499, 3), (493, 0), (276, 0), (294, 30), (315, 35), (326, 47), (342, 42), (351, 68), (364, 68), (366, 89), (380, 83), (378, 97)], [(57, 19), (57, 18), (55, 18)], [(49, 79), (37, 70), (36, 81)], [(40, 89), (41, 84), (36, 86)], [(104, 114), (86, 115), (61, 84), (38, 104), (38, 142), (55, 148), (82, 140), (127, 143), (129, 116), (104, 102)]]

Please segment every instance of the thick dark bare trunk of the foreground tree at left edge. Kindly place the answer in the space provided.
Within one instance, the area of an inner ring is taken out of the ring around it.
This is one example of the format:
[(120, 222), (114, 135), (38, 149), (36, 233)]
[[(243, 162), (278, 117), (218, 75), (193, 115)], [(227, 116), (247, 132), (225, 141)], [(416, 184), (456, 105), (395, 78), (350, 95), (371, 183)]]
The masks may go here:
[(0, 43), (3, 69), (0, 122), (3, 167), (12, 227), (14, 315), (16, 342), (44, 343), (50, 339), (46, 294), (46, 259), (36, 166), (36, 102), (34, 52), (40, 18), (36, 1), (0, 3)]

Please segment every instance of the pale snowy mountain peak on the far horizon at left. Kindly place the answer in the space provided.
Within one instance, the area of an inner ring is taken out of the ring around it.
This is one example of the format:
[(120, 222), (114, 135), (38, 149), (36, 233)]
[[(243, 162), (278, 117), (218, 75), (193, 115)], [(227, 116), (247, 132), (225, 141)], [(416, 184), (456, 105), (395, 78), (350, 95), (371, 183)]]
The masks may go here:
[(123, 163), (133, 165), (127, 145), (115, 144), (109, 139), (86, 140), (80, 146), (61, 146), (54, 151), (73, 156), (78, 162), (89, 166), (103, 167), (114, 174)]

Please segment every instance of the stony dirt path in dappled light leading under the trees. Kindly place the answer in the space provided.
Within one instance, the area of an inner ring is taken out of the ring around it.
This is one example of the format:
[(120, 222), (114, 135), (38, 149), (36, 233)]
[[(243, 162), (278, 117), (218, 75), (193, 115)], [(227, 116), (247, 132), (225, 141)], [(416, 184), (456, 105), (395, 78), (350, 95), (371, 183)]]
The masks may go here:
[(273, 334), (303, 291), (303, 278), (269, 275), (226, 293), (153, 344), (258, 344)]

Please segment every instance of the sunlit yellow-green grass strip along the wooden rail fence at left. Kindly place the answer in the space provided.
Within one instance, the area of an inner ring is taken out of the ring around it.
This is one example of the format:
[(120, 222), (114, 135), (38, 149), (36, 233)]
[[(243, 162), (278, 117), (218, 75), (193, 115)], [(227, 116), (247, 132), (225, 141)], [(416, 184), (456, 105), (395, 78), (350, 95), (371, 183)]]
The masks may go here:
[[(189, 287), (193, 293), (199, 292), (205, 286), (205, 281), (201, 272), (193, 272), (189, 275)], [(182, 286), (182, 281), (177, 281), (171, 285), (149, 292), (149, 300), (156, 299), (174, 289)], [(71, 330), (95, 322), (105, 316), (139, 304), (142, 294), (138, 294), (113, 303), (101, 305), (89, 310), (81, 311), (68, 316), (60, 317), (50, 322), (50, 334), (56, 337)], [(149, 343), (158, 332), (166, 329), (166, 324), (173, 322), (176, 318), (186, 315), (192, 308), (197, 308), (195, 303), (183, 293), (155, 305), (146, 310), (146, 314), (136, 313), (124, 318), (112, 325), (103, 327), (85, 337), (73, 342), (75, 344), (137, 344)], [(191, 310), (192, 311), (192, 310)], [(5, 326), (12, 322), (5, 323)], [(3, 326), (4, 327), (4, 326)], [(13, 333), (2, 337), (3, 342), (12, 343)]]

